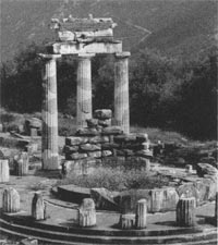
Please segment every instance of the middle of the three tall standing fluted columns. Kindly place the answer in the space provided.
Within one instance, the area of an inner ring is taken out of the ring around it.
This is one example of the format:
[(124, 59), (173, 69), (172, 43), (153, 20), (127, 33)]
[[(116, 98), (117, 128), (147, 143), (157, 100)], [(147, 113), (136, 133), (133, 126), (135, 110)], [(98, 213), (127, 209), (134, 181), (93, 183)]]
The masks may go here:
[(92, 53), (78, 54), (77, 64), (77, 94), (76, 94), (76, 119), (77, 128), (87, 126), (86, 119), (92, 119)]

